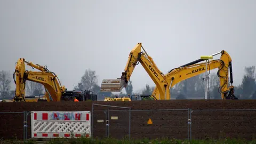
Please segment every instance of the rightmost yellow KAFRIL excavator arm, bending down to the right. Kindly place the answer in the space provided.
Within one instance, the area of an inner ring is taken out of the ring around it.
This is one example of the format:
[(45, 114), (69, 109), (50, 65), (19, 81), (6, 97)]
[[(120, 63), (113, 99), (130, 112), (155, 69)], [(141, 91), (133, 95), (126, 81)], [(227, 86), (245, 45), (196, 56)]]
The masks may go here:
[[(222, 99), (237, 99), (234, 95), (234, 86), (233, 84), (233, 73), (232, 73), (232, 65), (230, 55), (226, 51), (221, 51), (219, 53), (215, 53), (214, 55), (220, 54), (221, 57), (218, 60), (211, 60), (207, 63), (207, 71), (211, 69), (218, 68), (217, 75), (220, 78), (220, 87), (219, 92), (221, 93)], [(198, 59), (196, 61), (187, 63), (179, 68), (172, 69), (168, 74), (165, 75), (167, 79), (167, 83), (169, 84), (169, 89), (173, 87), (175, 84), (184, 81), (190, 77), (197, 76), (199, 74), (205, 73), (206, 64), (198, 63), (204, 61), (203, 59)], [(230, 83), (231, 86), (228, 87), (228, 71), (230, 71)], [(155, 99), (159, 99), (159, 90), (155, 87), (152, 95), (154, 95)]]

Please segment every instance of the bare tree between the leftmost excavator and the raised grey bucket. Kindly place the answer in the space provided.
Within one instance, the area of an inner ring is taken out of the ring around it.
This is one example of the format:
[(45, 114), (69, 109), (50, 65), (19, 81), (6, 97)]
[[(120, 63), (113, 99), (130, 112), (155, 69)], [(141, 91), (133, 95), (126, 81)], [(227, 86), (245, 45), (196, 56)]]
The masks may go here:
[(75, 90), (93, 90), (97, 85), (98, 78), (95, 70), (86, 69), (84, 75), (81, 77), (81, 82), (74, 87)]

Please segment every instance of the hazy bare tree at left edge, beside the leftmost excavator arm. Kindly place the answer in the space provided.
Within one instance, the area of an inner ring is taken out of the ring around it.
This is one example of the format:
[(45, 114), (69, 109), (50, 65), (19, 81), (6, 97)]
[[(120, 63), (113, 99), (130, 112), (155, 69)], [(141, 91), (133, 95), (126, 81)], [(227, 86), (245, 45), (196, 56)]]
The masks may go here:
[(0, 72), (0, 94), (2, 99), (10, 97), (11, 75), (9, 71)]

